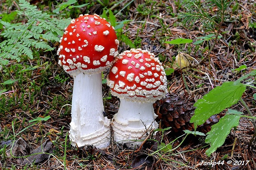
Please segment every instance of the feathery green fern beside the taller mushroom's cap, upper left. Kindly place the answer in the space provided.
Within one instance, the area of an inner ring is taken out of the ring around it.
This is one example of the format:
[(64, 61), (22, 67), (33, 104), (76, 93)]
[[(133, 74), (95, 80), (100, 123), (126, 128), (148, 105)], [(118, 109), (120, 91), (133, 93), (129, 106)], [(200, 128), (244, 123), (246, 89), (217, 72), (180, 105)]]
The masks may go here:
[[(32, 59), (34, 48), (53, 50), (47, 41), (59, 41), (71, 20), (51, 18), (26, 0), (19, 0), (19, 7), (17, 15), (23, 18), (22, 23), (8, 23), (0, 19), (5, 28), (0, 34), (5, 39), (0, 42), (0, 66), (8, 64), (9, 60), (19, 62), (24, 55)], [(24, 19), (27, 19), (26, 23)]]

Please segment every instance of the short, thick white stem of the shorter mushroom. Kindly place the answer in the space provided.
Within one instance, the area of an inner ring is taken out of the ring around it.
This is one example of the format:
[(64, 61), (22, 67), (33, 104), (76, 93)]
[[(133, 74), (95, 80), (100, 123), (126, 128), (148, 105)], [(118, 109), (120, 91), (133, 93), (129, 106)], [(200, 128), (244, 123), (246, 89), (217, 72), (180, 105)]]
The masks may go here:
[[(139, 103), (120, 99), (119, 111), (114, 115), (114, 140), (128, 147), (140, 145), (151, 129), (156, 129), (153, 103)], [(135, 141), (134, 140), (138, 140)]]

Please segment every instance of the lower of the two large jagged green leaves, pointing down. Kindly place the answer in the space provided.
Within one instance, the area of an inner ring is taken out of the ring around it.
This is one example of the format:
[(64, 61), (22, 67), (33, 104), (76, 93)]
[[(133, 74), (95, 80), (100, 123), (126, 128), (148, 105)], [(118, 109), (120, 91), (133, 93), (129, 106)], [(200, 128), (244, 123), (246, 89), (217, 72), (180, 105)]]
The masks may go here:
[(218, 147), (223, 145), (231, 129), (238, 126), (240, 117), (242, 115), (226, 114), (220, 118), (218, 123), (211, 126), (211, 131), (206, 133), (207, 137), (205, 139), (205, 142), (211, 145), (205, 152), (207, 156), (210, 156)]

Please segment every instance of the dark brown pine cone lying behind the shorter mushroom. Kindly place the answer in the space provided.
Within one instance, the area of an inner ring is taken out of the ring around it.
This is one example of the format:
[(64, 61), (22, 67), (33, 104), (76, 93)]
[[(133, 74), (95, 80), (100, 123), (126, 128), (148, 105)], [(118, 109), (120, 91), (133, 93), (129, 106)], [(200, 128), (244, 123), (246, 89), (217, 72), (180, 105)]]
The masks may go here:
[[(171, 131), (175, 133), (184, 133), (183, 130), (194, 131), (194, 124), (190, 123), (195, 107), (195, 101), (188, 99), (186, 95), (166, 94), (166, 98), (157, 100), (154, 106), (154, 112), (158, 117), (156, 121), (160, 122), (161, 128), (172, 127)], [(197, 131), (207, 133), (211, 130), (211, 126), (218, 122), (220, 115), (213, 115), (206, 122), (197, 127)]]

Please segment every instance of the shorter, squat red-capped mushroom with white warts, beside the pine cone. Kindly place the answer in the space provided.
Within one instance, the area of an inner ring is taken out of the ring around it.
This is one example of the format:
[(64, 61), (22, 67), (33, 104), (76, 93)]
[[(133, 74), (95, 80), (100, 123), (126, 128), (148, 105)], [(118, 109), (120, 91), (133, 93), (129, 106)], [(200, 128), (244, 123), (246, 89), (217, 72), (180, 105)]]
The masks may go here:
[(119, 97), (114, 115), (114, 140), (128, 147), (140, 145), (146, 132), (158, 127), (153, 103), (166, 94), (166, 74), (158, 58), (145, 50), (131, 49), (119, 54), (107, 77), (111, 94)]

